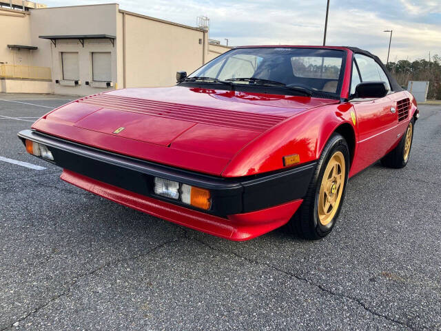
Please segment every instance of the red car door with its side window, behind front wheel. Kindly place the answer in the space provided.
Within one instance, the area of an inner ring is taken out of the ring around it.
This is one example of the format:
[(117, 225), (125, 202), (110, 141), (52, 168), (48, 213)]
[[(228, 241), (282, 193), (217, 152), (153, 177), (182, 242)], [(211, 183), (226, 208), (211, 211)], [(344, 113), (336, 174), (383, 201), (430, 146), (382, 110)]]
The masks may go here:
[[(364, 54), (355, 54), (352, 72), (351, 94), (360, 81), (384, 81), (390, 83), (376, 61)], [(389, 96), (378, 99), (352, 99), (358, 128), (358, 157), (354, 162), (357, 172), (378, 161), (396, 143), (398, 115)]]

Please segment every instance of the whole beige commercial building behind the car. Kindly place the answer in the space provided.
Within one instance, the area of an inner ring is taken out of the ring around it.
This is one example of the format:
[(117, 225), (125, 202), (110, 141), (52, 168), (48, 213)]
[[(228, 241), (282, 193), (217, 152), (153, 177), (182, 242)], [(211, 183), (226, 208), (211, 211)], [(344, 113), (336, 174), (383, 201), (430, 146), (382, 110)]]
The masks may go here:
[(44, 8), (23, 1), (23, 8), (0, 7), (3, 92), (86, 95), (171, 86), (176, 71), (192, 72), (229, 50), (209, 42), (206, 28), (127, 12), (117, 3)]

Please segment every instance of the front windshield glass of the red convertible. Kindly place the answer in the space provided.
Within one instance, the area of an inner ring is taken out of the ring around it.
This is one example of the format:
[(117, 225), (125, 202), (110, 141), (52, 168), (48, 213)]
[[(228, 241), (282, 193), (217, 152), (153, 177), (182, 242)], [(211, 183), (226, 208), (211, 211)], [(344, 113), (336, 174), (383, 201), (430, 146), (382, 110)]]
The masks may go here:
[[(189, 77), (259, 85), (264, 80), (340, 94), (345, 52), (320, 48), (237, 48)], [(240, 79), (246, 79), (241, 81)]]

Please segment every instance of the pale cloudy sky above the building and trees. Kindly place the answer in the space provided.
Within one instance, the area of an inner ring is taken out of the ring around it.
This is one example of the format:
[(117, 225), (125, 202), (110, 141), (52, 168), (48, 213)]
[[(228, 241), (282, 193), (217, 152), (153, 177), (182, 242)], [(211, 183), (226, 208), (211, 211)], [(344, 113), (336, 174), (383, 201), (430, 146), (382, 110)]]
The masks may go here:
[[(110, 1), (40, 0), (48, 6)], [(229, 45), (318, 45), (323, 40), (326, 0), (121, 0), (120, 8), (196, 26), (211, 20), (210, 38)], [(356, 46), (386, 62), (441, 56), (441, 0), (331, 0), (327, 45)]]

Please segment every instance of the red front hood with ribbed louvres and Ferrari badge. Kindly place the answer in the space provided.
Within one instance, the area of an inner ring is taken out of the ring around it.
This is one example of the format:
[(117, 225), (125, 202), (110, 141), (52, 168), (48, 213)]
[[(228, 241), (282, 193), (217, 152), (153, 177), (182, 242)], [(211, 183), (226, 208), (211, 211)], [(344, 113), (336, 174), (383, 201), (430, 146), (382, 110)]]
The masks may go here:
[(247, 143), (336, 100), (205, 88), (130, 88), (62, 106), (32, 128), (139, 159), (220, 175)]

